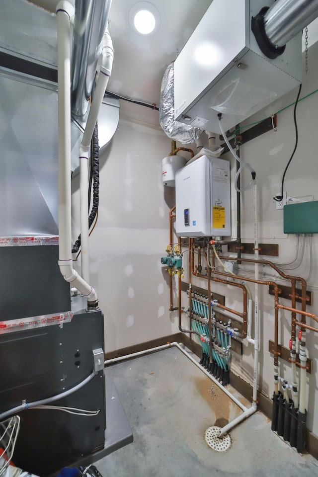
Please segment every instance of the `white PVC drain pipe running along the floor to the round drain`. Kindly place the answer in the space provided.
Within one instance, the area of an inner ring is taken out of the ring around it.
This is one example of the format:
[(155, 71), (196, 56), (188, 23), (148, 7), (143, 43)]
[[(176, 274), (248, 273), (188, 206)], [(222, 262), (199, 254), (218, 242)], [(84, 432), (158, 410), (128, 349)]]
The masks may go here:
[(160, 351), (161, 349), (165, 349), (165, 348), (171, 348), (171, 346), (175, 346), (176, 348), (178, 348), (187, 358), (189, 358), (190, 361), (192, 361), (192, 363), (194, 363), (199, 369), (200, 371), (202, 371), (208, 378), (211, 379), (211, 381), (213, 381), (223, 392), (224, 394), (226, 394), (228, 397), (230, 397), (233, 402), (235, 402), (239, 408), (243, 411), (238, 417), (236, 417), (233, 421), (229, 422), (229, 424), (227, 424), (226, 426), (222, 427), (221, 431), (220, 431), (220, 434), (218, 437), (221, 437), (223, 436), (224, 434), (227, 434), (227, 432), (229, 432), (231, 429), (233, 429), (233, 427), (235, 427), (237, 424), (239, 424), (240, 422), (242, 422), (244, 419), (246, 419), (246, 417), (250, 416), (251, 414), (253, 414), (256, 410), (257, 410), (257, 407), (256, 405), (252, 405), (251, 407), (246, 407), (244, 406), (244, 404), (242, 404), (239, 399), (237, 397), (235, 397), (232, 393), (230, 393), (230, 391), (228, 391), (224, 386), (222, 386), (221, 383), (219, 383), (219, 381), (217, 381), (210, 373), (208, 373), (208, 371), (206, 371), (185, 349), (182, 348), (182, 346), (177, 343), (176, 341), (173, 341), (172, 343), (168, 343), (168, 344), (164, 344), (162, 346), (158, 346), (157, 348), (151, 348), (151, 349), (146, 349), (144, 351), (139, 351), (138, 353), (132, 353), (132, 354), (128, 354), (126, 356), (121, 356), (119, 358), (113, 358), (113, 359), (109, 359), (109, 360), (106, 360), (105, 361), (105, 366), (108, 366), (110, 364), (114, 364), (114, 363), (118, 363), (119, 361), (124, 361), (124, 360), (127, 360), (127, 359), (132, 359), (132, 358), (136, 358), (138, 356), (143, 356), (145, 354), (149, 354), (149, 353), (153, 353), (155, 351)]

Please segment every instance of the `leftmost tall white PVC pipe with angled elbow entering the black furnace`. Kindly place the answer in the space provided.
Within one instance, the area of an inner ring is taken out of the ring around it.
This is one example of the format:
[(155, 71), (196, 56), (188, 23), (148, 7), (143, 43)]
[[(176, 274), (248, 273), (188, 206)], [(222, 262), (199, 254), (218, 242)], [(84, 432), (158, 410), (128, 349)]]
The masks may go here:
[[(76, 270), (72, 261), (71, 232), (71, 35), (74, 7), (62, 0), (56, 7), (58, 25), (58, 158), (59, 158), (59, 267), (88, 302), (97, 301), (95, 290)], [(87, 212), (87, 210), (86, 210)]]

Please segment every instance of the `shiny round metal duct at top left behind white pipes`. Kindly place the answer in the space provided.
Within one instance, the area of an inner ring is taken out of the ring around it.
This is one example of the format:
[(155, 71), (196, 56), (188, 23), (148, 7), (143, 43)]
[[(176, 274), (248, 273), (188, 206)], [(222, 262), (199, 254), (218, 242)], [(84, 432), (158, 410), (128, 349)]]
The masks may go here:
[(72, 114), (88, 107), (112, 0), (76, 0), (72, 51)]

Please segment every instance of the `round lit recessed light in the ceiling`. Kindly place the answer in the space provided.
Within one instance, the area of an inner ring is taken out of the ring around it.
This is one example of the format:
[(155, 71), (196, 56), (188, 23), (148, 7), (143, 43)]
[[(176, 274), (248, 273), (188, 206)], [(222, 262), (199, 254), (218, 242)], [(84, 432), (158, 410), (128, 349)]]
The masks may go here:
[(133, 30), (142, 35), (155, 33), (160, 24), (159, 12), (152, 3), (139, 1), (129, 12), (129, 23)]

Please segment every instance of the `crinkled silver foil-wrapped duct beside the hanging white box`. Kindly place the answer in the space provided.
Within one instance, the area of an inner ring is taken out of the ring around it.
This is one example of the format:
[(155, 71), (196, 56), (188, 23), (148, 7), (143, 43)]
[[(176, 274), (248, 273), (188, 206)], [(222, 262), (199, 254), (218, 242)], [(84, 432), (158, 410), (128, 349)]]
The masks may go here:
[(180, 123), (174, 119), (173, 63), (168, 65), (161, 81), (159, 122), (168, 138), (179, 141), (182, 144), (196, 142), (202, 133), (200, 129)]

